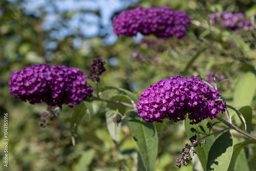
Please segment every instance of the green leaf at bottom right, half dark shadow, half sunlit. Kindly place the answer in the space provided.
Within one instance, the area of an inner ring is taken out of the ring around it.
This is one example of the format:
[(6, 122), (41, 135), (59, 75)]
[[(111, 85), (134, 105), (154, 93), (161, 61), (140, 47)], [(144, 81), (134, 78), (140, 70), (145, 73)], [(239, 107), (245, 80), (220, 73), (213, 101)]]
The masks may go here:
[(229, 131), (220, 135), (212, 144), (206, 170), (226, 171), (233, 153), (233, 140)]

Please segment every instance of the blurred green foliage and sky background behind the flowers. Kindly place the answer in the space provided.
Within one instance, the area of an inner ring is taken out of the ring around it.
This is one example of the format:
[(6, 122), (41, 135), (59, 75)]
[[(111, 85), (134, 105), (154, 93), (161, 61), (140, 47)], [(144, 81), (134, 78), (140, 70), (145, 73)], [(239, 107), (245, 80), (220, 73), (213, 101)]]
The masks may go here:
[[(168, 6), (187, 12), (197, 22), (189, 26), (187, 36), (167, 40), (154, 36), (118, 37), (111, 18), (122, 10)], [(93, 59), (106, 61), (106, 72), (99, 88), (121, 87), (132, 92), (147, 89), (151, 84), (171, 76), (192, 75), (206, 78), (207, 71), (224, 75), (219, 91), (224, 101), (232, 104), (234, 88), (247, 71), (255, 72), (256, 33), (234, 33), (212, 29), (209, 16), (215, 12), (242, 12), (255, 27), (256, 1), (139, 1), (139, 0), (2, 0), (0, 2), (0, 123), (3, 153), (3, 118), (9, 117), (9, 166), (2, 170), (137, 170), (137, 147), (125, 120), (122, 123), (119, 151), (106, 129), (106, 103), (95, 101), (92, 120), (82, 118), (76, 145), (71, 142), (70, 116), (65, 106), (46, 128), (38, 126), (46, 104), (29, 104), (9, 93), (8, 80), (14, 70), (48, 63), (80, 68), (89, 74)], [(236, 43), (230, 40), (235, 35)], [(195, 59), (189, 66), (191, 59)], [(94, 87), (94, 82), (88, 80)], [(110, 98), (116, 91), (101, 95)], [(255, 100), (252, 102), (255, 113)], [(251, 134), (255, 135), (255, 114)], [(155, 170), (178, 170), (179, 157), (188, 138), (183, 122), (167, 120), (156, 124), (159, 154)], [(255, 157), (255, 155), (254, 155)], [(193, 160), (197, 162), (197, 160)], [(195, 166), (197, 166), (195, 164)], [(180, 170), (200, 170), (191, 163)]]

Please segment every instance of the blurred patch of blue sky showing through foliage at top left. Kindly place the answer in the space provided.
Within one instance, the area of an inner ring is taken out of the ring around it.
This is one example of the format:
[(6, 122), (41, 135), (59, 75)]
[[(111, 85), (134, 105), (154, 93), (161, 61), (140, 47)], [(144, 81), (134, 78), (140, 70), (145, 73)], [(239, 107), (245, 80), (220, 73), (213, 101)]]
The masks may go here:
[[(17, 2), (17, 0), (7, 0)], [(49, 31), (45, 41), (46, 50), (57, 47), (55, 40), (75, 35), (74, 47), (78, 48), (83, 38), (102, 36), (107, 45), (117, 40), (111, 24), (115, 12), (125, 10), (140, 0), (25, 0), (21, 6), (25, 14), (42, 19), (42, 29)], [(100, 16), (95, 12), (99, 12)], [(65, 13), (73, 14), (70, 18)], [(47, 45), (47, 44), (50, 45)]]

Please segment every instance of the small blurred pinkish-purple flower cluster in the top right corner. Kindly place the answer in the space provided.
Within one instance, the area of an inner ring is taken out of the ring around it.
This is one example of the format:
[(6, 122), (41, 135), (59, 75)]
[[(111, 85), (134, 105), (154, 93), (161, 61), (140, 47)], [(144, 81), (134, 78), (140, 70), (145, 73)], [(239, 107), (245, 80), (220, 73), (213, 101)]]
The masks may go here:
[(213, 13), (210, 15), (210, 20), (212, 24), (217, 24), (222, 28), (227, 28), (228, 30), (234, 30), (238, 32), (239, 30), (253, 30), (253, 25), (245, 20), (243, 13)]

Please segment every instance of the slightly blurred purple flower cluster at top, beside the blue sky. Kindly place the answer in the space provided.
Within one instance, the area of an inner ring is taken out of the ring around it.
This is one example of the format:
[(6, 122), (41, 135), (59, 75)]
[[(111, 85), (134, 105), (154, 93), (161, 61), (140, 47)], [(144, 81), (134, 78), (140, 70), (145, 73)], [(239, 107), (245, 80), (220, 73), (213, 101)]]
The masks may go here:
[(122, 11), (112, 20), (114, 33), (117, 35), (134, 36), (140, 32), (143, 35), (154, 34), (164, 39), (173, 35), (182, 38), (190, 24), (191, 19), (187, 13), (173, 11), (168, 7), (138, 7)]

